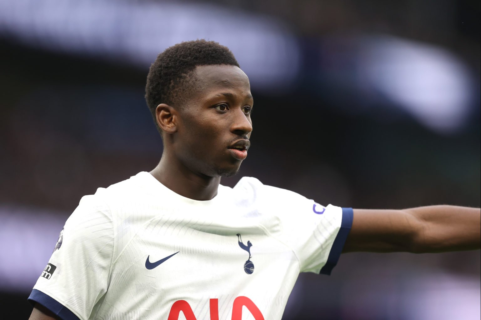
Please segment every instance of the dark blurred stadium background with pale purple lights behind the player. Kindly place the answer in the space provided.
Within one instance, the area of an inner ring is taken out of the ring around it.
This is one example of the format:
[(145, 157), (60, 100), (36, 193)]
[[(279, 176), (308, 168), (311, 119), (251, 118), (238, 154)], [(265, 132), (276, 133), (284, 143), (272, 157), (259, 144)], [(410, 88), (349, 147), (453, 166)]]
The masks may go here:
[[(479, 0), (1, 0), (3, 319), (28, 318), (79, 199), (160, 159), (143, 90), (166, 47), (218, 41), (251, 79), (252, 151), (224, 184), (479, 207), (480, 36)], [(283, 319), (479, 320), (480, 296), (480, 251), (352, 253), (301, 274)]]

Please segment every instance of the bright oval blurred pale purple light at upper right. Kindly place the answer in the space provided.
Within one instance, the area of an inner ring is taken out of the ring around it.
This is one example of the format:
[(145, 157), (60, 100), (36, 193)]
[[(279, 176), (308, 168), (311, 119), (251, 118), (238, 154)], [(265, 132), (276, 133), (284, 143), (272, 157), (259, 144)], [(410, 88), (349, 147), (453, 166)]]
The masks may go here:
[(473, 83), (454, 55), (392, 36), (367, 38), (362, 48), (364, 81), (432, 130), (463, 127), (474, 98)]

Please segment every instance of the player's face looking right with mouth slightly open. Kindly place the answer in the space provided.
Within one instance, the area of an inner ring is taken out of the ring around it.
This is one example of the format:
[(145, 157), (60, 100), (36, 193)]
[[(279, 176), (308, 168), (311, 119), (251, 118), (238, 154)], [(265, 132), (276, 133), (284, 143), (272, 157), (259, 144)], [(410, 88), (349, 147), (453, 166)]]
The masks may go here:
[(235, 66), (196, 67), (192, 94), (178, 110), (174, 150), (184, 166), (209, 177), (232, 176), (247, 156), (253, 98)]

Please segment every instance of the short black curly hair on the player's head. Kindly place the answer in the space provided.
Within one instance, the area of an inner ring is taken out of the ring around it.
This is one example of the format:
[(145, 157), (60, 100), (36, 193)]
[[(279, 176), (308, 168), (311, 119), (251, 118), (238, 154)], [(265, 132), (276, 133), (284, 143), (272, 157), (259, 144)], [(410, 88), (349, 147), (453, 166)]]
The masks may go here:
[(159, 132), (162, 133), (155, 118), (157, 106), (165, 103), (180, 107), (194, 84), (191, 75), (195, 67), (216, 64), (239, 67), (228, 47), (204, 39), (178, 43), (157, 56), (147, 75), (145, 100)]

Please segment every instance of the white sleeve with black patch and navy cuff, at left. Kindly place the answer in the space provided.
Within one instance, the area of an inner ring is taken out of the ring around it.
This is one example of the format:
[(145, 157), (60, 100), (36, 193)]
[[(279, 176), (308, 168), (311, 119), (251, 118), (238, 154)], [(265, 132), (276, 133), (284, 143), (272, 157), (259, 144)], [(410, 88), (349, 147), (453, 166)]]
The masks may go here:
[(113, 249), (114, 228), (108, 207), (96, 196), (83, 197), (65, 222), (28, 300), (61, 319), (88, 319), (107, 291)]

